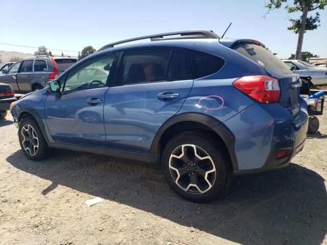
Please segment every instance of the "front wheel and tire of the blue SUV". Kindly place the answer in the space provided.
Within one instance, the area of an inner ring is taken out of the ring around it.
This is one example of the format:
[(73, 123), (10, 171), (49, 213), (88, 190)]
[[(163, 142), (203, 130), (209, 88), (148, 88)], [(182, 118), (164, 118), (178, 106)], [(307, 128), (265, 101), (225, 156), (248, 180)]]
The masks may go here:
[(34, 118), (25, 117), (20, 121), (18, 138), (20, 148), (28, 159), (39, 161), (49, 156), (51, 148)]

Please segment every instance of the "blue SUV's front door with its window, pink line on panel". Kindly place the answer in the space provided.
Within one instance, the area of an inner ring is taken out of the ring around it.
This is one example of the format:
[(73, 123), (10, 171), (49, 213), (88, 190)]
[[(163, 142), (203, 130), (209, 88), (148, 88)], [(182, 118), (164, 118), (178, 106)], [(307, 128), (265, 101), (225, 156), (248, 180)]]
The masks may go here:
[[(45, 120), (56, 141), (105, 145), (103, 105), (115, 54), (82, 62), (59, 80), (61, 96), (50, 93), (45, 101)], [(95, 76), (101, 70), (101, 76)]]

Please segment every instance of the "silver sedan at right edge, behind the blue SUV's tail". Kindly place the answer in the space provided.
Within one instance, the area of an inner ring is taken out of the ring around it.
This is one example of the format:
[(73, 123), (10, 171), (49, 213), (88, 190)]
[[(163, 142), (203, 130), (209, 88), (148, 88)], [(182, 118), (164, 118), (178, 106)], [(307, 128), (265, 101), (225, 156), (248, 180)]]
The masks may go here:
[(288, 67), (301, 77), (311, 77), (315, 86), (327, 85), (327, 68), (317, 67), (301, 60), (283, 60)]

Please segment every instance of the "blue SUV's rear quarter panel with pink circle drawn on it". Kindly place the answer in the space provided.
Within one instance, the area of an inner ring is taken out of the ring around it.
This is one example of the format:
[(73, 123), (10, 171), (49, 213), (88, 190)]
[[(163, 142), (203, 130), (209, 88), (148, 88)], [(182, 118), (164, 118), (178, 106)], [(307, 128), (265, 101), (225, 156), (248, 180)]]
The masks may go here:
[(217, 43), (201, 47), (199, 51), (222, 58), (224, 65), (215, 74), (194, 80), (190, 95), (179, 113), (192, 111), (210, 115), (218, 120), (218, 124), (254, 104), (252, 99), (234, 88), (232, 83), (244, 76), (268, 75), (262, 67)]

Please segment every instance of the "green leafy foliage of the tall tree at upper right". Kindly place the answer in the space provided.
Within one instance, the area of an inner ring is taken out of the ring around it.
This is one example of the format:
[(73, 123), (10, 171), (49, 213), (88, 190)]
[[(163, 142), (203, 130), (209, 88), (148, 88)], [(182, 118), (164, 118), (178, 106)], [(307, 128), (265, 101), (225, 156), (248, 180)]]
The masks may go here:
[[(274, 9), (282, 8), (283, 4), (286, 3), (285, 9), (288, 13), (302, 12), (305, 7), (308, 7), (308, 12), (311, 12), (316, 9), (324, 9), (327, 5), (327, 0), (293, 0), (293, 5), (288, 4), (288, 0), (270, 0), (270, 3), (266, 4), (265, 7), (269, 11)], [(299, 19), (289, 18), (292, 22), (292, 25), (288, 27), (288, 30), (293, 31), (294, 33), (300, 33), (301, 29), (301, 20), (302, 16)], [(316, 30), (320, 24), (319, 13), (317, 12), (315, 16), (307, 17), (306, 28), (304, 31)]]

